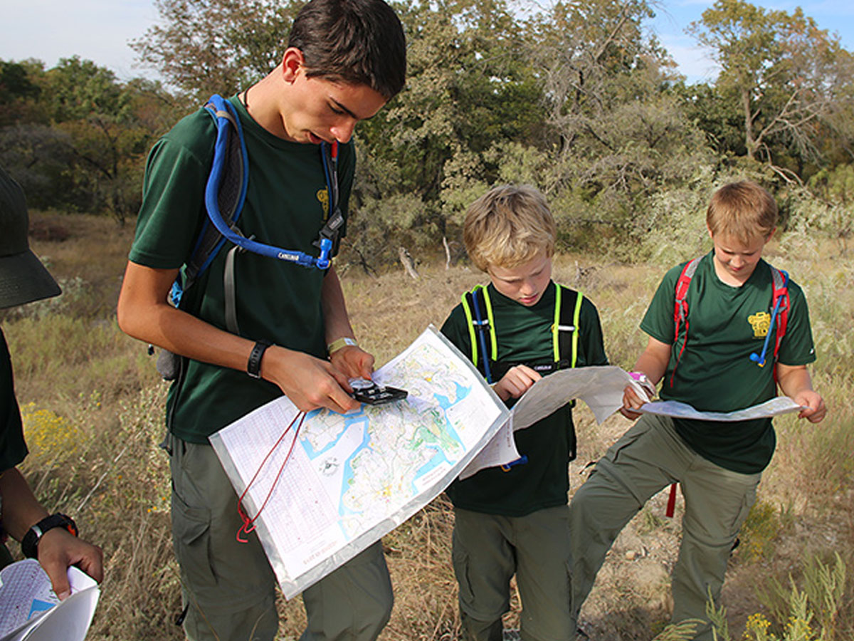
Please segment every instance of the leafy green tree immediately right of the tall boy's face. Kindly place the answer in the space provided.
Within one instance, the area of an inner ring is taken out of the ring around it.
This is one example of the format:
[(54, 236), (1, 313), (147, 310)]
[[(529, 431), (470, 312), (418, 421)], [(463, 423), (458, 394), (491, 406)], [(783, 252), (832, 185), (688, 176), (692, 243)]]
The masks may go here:
[(540, 142), (545, 125), (524, 32), (503, 0), (397, 9), (407, 31), (407, 87), (357, 129), (354, 208), (356, 249), (389, 260), (397, 243), (437, 249), (454, 235), (465, 206), (520, 149), (510, 143)]

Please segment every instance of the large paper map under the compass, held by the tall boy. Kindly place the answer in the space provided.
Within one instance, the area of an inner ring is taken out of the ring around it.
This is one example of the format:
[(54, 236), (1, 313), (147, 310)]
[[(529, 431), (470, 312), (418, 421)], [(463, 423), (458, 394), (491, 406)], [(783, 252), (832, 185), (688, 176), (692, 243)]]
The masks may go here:
[(248, 514), (264, 505), (255, 524), (287, 598), (438, 496), (509, 416), (433, 327), (374, 380), (409, 396), (348, 415), (311, 412), (295, 443), (296, 423), (279, 441), (297, 415), (281, 397), (210, 438), (238, 495), (251, 481)]

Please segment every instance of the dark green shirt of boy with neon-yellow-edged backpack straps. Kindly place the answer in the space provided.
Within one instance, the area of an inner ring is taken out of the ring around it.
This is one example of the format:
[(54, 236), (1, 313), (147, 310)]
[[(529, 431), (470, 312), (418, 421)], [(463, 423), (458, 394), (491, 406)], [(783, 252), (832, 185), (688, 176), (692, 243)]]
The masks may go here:
[[(501, 362), (553, 360), (555, 289), (550, 282), (541, 299), (533, 307), (525, 307), (488, 285)], [(563, 296), (565, 302), (567, 294), (564, 292)], [(587, 298), (583, 299), (578, 325), (576, 367), (607, 365), (599, 314)], [(447, 317), (442, 333), (464, 354), (471, 355), (469, 328), (461, 304)], [(570, 355), (561, 354), (561, 357)], [(508, 407), (515, 400), (510, 399)], [(534, 425), (514, 432), (513, 438), (519, 455), (528, 456), (528, 462), (515, 465), (508, 472), (488, 468), (468, 479), (455, 480), (447, 495), (456, 507), (493, 515), (524, 516), (566, 504), (567, 465), (576, 454), (570, 406), (565, 405)]]

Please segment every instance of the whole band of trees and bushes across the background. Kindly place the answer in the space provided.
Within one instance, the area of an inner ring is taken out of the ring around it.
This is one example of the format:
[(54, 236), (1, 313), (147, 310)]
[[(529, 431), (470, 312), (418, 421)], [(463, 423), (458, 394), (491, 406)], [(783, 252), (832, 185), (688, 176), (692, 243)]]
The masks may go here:
[[(32, 206), (125, 221), (155, 139), (214, 91), (269, 73), (300, 6), (155, 0), (161, 22), (132, 48), (167, 85), (120, 82), (76, 56), (50, 69), (0, 61), (0, 164)], [(740, 177), (775, 192), (787, 225), (851, 235), (854, 60), (800, 9), (718, 0), (691, 31), (722, 72), (695, 85), (644, 31), (646, 0), (395, 9), (407, 87), (357, 131), (351, 262), (377, 268), (401, 245), (440, 252), (468, 203), (502, 182), (546, 193), (564, 248), (620, 260), (703, 232), (711, 191)]]

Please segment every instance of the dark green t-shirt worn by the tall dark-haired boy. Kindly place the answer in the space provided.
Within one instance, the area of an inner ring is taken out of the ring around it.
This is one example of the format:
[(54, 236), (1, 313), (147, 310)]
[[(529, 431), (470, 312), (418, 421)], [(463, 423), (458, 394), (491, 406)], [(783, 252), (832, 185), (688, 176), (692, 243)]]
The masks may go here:
[[(232, 97), (249, 154), (249, 186), (238, 221), (243, 235), (318, 256), (313, 247), (328, 213), (319, 145), (299, 144), (267, 132)], [(204, 189), (213, 162), (215, 127), (207, 111), (186, 116), (149, 154), (143, 205), (130, 254), (150, 268), (178, 268), (190, 257), (202, 223)], [(339, 147), (339, 184), (346, 214), (353, 182), (352, 144)], [(225, 329), (223, 267), (231, 244), (184, 293), (181, 309)], [(249, 252), (235, 261), (237, 323), (245, 338), (266, 338), (291, 350), (326, 357), (320, 290), (325, 272)], [(245, 372), (190, 361), (184, 380), (169, 392), (167, 419), (179, 438), (207, 443), (208, 435), (281, 395), (277, 385)]]

